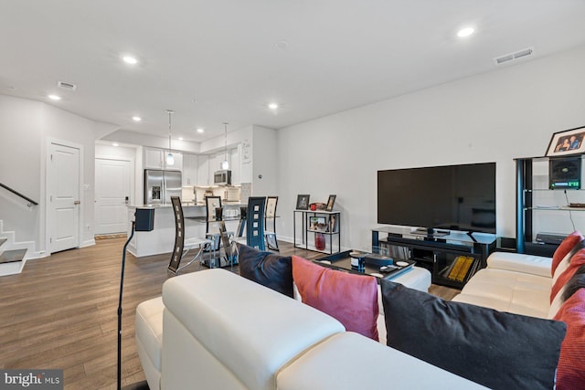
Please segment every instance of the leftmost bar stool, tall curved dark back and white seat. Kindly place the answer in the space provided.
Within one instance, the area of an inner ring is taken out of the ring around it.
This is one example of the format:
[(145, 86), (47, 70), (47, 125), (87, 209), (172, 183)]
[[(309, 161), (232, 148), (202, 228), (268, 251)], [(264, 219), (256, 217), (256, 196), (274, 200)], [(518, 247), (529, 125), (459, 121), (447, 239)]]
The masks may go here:
[[(197, 258), (201, 258), (206, 248), (211, 245), (211, 240), (207, 238), (191, 237), (185, 238), (185, 218), (183, 216), (183, 206), (181, 206), (181, 198), (178, 196), (171, 196), (171, 203), (173, 205), (173, 214), (175, 215), (175, 247), (171, 255), (171, 261), (168, 265), (168, 271), (176, 275), (181, 269), (185, 269)], [(198, 248), (196, 255), (187, 261), (186, 264), (180, 266), (181, 259), (186, 257), (186, 254), (193, 248)], [(201, 262), (199, 261), (199, 268)]]

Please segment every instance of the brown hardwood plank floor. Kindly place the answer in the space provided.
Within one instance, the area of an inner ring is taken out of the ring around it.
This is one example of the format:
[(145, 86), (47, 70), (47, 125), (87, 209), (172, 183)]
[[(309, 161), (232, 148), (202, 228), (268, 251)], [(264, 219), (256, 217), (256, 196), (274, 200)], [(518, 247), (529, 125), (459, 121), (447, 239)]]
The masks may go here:
[[(114, 389), (117, 308), (125, 237), (100, 239), (27, 261), (19, 275), (0, 278), (0, 367), (63, 369), (66, 389)], [(320, 253), (279, 242), (282, 255), (314, 259)], [(134, 345), (134, 312), (161, 294), (170, 255), (126, 256), (122, 305), (122, 386), (144, 380)], [(192, 264), (183, 273), (197, 271)], [(237, 271), (237, 268), (235, 268)], [(457, 290), (431, 286), (451, 299)]]

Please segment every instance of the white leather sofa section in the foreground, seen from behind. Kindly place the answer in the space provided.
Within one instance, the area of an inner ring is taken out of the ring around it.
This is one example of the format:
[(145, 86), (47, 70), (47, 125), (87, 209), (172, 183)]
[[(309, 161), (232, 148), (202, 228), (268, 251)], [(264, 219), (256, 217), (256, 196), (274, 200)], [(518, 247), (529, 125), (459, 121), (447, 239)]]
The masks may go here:
[(151, 390), (483, 388), (224, 269), (167, 280), (136, 343)]

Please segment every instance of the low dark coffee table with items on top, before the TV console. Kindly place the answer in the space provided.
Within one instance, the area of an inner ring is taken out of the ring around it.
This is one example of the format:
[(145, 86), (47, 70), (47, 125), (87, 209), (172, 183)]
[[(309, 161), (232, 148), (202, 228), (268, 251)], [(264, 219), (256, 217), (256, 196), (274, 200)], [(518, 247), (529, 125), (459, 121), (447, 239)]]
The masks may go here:
[(378, 279), (395, 279), (414, 268), (415, 261), (402, 258), (389, 258), (379, 253), (376, 248), (371, 252), (346, 250), (314, 259), (314, 264), (349, 272), (357, 275), (369, 275)]

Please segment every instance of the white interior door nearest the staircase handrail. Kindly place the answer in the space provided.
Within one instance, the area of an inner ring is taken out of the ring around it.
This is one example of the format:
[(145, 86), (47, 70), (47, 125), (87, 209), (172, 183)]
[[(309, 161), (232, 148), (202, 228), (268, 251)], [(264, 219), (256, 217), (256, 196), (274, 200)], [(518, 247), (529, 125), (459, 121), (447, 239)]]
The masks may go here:
[(80, 150), (51, 143), (47, 174), (50, 253), (80, 246)]

